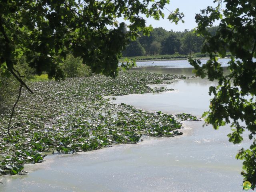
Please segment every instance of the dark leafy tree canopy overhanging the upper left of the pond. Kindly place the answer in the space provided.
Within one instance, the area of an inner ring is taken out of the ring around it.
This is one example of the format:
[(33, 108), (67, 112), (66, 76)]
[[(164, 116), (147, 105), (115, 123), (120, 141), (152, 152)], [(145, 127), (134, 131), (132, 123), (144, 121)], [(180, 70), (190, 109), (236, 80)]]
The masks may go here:
[[(58, 80), (64, 77), (58, 63), (71, 53), (80, 56), (93, 72), (115, 77), (118, 58), (128, 41), (135, 40), (139, 31), (149, 34), (152, 29), (140, 14), (159, 20), (167, 3), (169, 0), (1, 1), (0, 69), (29, 89), (15, 69), (17, 58), (25, 55), (37, 74), (46, 71), (49, 78)], [(169, 18), (176, 22), (177, 16), (182, 18), (176, 11)], [(124, 23), (117, 22), (121, 17), (130, 22), (128, 32)]]

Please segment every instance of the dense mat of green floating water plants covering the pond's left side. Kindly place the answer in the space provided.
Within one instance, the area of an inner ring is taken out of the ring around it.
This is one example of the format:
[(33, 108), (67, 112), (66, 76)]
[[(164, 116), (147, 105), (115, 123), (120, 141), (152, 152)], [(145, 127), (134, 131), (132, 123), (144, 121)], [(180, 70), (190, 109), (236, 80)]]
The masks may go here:
[(117, 143), (137, 143), (143, 135), (172, 137), (182, 124), (170, 114), (112, 104), (124, 94), (162, 92), (147, 84), (186, 76), (120, 72), (116, 79), (94, 75), (62, 82), (29, 82), (7, 134), (10, 111), (0, 114), (0, 175), (23, 172), (24, 164), (40, 163), (47, 153), (72, 154)]

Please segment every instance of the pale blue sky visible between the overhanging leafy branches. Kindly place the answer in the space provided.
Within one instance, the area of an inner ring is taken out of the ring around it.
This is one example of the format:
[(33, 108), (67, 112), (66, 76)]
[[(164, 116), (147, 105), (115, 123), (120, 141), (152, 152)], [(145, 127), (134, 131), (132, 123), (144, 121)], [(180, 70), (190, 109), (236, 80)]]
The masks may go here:
[(179, 22), (178, 25), (171, 23), (167, 17), (170, 12), (166, 9), (163, 10), (165, 14), (164, 19), (154, 20), (153, 18), (146, 18), (147, 26), (150, 24), (154, 27), (162, 27), (167, 31), (174, 30), (174, 31), (184, 31), (185, 29), (191, 30), (197, 26), (195, 21), (195, 16), (197, 13), (200, 13), (200, 10), (205, 9), (207, 6), (214, 6), (216, 7), (217, 4), (213, 3), (213, 0), (170, 0), (170, 4), (166, 5), (165, 7), (170, 10), (176, 10), (176, 8), (180, 9), (180, 12), (184, 13), (184, 24)]

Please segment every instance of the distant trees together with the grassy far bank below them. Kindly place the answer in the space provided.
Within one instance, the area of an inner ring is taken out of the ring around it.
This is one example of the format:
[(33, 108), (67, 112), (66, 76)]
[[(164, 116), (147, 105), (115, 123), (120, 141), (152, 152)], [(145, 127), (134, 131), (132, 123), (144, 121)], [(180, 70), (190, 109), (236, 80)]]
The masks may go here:
[[(208, 32), (216, 34), (217, 26), (209, 27)], [(140, 60), (177, 60), (210, 57), (207, 52), (202, 53), (204, 38), (198, 36), (194, 30), (184, 30), (183, 32), (166, 31), (164, 28), (153, 28), (150, 36), (139, 33), (140, 36), (135, 41), (130, 41), (126, 50), (122, 52), (120, 61), (125, 58), (136, 61)], [(219, 56), (215, 53), (214, 56)], [(226, 56), (231, 56), (227, 52)]]

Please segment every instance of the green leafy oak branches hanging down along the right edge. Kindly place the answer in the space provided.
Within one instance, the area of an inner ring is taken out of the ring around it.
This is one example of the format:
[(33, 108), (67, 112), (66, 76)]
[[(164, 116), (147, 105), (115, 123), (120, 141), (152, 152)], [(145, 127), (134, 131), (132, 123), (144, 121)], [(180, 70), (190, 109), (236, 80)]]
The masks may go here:
[[(210, 110), (204, 114), (206, 123), (215, 129), (224, 124), (231, 124), (232, 133), (229, 141), (234, 144), (242, 142), (242, 133), (247, 129), (252, 145), (242, 148), (236, 158), (244, 160), (241, 173), (244, 180), (256, 185), (256, 25), (255, 0), (216, 0), (216, 8), (207, 7), (202, 14), (196, 15), (198, 27), (196, 33), (204, 38), (202, 53), (208, 53), (210, 60), (201, 64), (200, 60), (190, 58), (197, 76), (218, 80), (217, 87), (210, 87)], [(226, 9), (221, 10), (225, 3)], [(216, 33), (208, 28), (215, 20), (220, 24)], [(221, 57), (231, 52), (228, 69), (224, 74), (215, 54)], [(243, 122), (245, 124), (242, 124)]]

